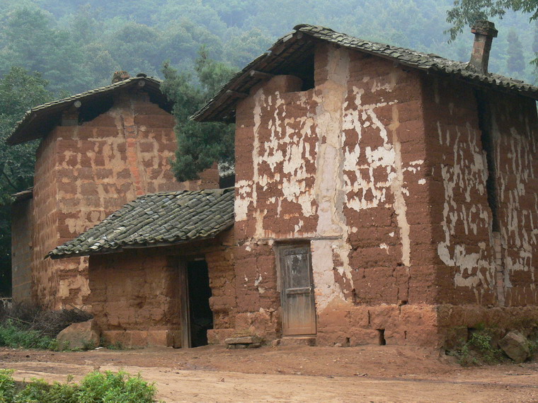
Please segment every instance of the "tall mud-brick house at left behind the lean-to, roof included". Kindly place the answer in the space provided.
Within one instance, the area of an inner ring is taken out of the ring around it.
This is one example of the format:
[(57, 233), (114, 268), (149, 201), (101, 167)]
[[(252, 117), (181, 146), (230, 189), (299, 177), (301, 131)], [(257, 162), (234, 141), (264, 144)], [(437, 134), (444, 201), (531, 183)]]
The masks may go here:
[(218, 187), (217, 170), (178, 183), (171, 105), (160, 82), (125, 72), (110, 86), (28, 111), (8, 144), (40, 139), (34, 187), (13, 203), (13, 298), (85, 306), (88, 259), (44, 259), (122, 205), (150, 192)]

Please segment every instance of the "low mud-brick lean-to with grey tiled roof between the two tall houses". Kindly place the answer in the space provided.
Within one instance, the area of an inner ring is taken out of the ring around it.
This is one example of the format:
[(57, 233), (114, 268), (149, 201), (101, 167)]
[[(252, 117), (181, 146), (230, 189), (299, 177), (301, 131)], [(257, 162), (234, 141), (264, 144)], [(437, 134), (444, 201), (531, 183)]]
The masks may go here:
[(49, 257), (89, 255), (88, 300), (109, 342), (201, 346), (233, 325), (233, 226), (232, 188), (147, 194)]

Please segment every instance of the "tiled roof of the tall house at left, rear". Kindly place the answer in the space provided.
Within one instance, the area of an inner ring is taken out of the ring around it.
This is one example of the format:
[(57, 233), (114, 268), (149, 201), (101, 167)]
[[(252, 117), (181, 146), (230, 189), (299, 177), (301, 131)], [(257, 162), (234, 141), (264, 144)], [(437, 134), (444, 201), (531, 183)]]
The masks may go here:
[(148, 93), (157, 95), (161, 98), (163, 103), (167, 102), (165, 96), (159, 89), (161, 86), (160, 80), (147, 77), (145, 74), (138, 74), (136, 77), (118, 81), (118, 83), (110, 84), (110, 86), (96, 88), (61, 100), (55, 100), (50, 103), (44, 103), (43, 105), (33, 107), (25, 113), (20, 122), (17, 122), (13, 133), (6, 142), (9, 145), (14, 145), (24, 143), (25, 141), (40, 139), (42, 136), (45, 136), (55, 124), (57, 124), (62, 111), (73, 107), (76, 101), (79, 101), (81, 105), (86, 105), (86, 103), (93, 103), (122, 88), (125, 89), (134, 86), (139, 86), (140, 88), (144, 87), (144, 90)]

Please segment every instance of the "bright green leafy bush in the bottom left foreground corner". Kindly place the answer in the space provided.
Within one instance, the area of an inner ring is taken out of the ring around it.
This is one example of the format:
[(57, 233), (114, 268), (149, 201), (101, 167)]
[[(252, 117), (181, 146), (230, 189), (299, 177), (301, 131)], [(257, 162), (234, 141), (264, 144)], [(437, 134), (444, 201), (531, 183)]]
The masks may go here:
[(154, 402), (156, 387), (125, 372), (98, 371), (88, 373), (79, 385), (70, 382), (55, 382), (33, 379), (17, 392), (13, 381), (13, 370), (0, 370), (0, 402)]

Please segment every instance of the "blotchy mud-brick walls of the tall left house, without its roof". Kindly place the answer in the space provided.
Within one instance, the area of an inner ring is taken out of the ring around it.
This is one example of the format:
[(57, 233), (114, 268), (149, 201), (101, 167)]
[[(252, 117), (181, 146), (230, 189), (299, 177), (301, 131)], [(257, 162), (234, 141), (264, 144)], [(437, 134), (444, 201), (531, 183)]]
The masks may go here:
[[(69, 122), (69, 121), (68, 121)], [(176, 182), (174, 120), (143, 92), (115, 95), (113, 107), (90, 122), (57, 126), (42, 141), (35, 172), (33, 276), (37, 301), (49, 308), (84, 306), (85, 257), (43, 260), (136, 197), (218, 187), (216, 168), (202, 179)]]

